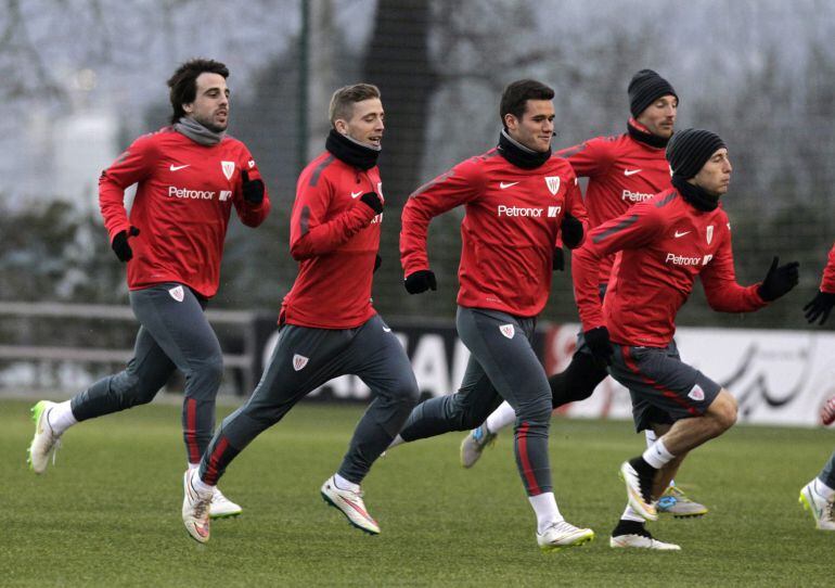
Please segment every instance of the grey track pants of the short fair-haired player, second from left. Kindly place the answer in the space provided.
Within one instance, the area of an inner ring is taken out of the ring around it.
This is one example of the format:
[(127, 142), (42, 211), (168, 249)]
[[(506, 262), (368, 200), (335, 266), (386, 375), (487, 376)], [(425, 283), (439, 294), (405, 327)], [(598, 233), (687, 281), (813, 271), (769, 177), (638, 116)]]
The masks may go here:
[(216, 484), (227, 465), (262, 431), (279, 422), (313, 388), (356, 374), (374, 396), (357, 424), (338, 473), (359, 484), (418, 401), (411, 362), (390, 329), (374, 316), (356, 329), (285, 324), (249, 400), (227, 417), (201, 463), (201, 478)]

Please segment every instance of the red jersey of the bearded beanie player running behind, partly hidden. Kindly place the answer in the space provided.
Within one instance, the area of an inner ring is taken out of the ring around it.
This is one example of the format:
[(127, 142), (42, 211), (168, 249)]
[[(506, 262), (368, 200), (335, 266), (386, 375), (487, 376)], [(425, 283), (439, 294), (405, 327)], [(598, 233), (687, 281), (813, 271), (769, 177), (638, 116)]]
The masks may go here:
[[(650, 146), (626, 132), (595, 137), (556, 155), (568, 159), (578, 177), (589, 178), (584, 204), (592, 229), (671, 188), (664, 148)], [(601, 284), (608, 283), (614, 260), (614, 255), (601, 260)]]

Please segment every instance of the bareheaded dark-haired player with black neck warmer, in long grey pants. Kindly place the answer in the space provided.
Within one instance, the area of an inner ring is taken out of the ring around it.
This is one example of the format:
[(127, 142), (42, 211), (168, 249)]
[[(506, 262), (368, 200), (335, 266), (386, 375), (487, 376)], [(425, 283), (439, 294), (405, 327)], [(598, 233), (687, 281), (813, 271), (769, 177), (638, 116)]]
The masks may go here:
[(509, 85), (499, 145), (418, 189), (403, 208), (406, 290), (418, 294), (437, 286), (426, 254), (429, 221), (465, 207), (457, 327), (472, 356), (461, 388), (419, 405), (395, 442), (464, 431), (508, 400), (517, 416), (516, 462), (543, 551), (594, 537), (566, 522), (556, 506), (548, 457), (551, 392), (530, 344), (551, 287), (557, 234), (567, 246), (579, 245), (587, 219), (571, 167), (551, 153), (553, 98), (536, 80)]

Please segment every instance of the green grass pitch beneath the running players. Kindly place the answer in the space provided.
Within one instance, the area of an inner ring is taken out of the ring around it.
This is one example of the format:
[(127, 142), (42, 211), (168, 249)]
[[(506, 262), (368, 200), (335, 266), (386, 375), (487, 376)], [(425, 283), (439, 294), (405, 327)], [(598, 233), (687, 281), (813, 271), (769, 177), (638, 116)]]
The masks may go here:
[[(555, 419), (557, 501), (587, 546), (544, 555), (511, 436), (470, 471), (452, 433), (399, 447), (363, 484), (377, 537), (326, 508), (360, 407), (301, 405), (257, 438), (221, 481), (244, 514), (206, 546), (180, 520), (179, 409), (139, 407), (84, 423), (36, 476), (25, 450), (31, 402), (0, 402), (0, 586), (832, 586), (835, 533), (797, 503), (835, 431), (736, 426), (694, 451), (679, 483), (710, 512), (651, 523), (681, 552), (614, 550), (625, 504), (619, 463), (643, 436), (626, 422)], [(219, 418), (232, 407), (219, 410)]]

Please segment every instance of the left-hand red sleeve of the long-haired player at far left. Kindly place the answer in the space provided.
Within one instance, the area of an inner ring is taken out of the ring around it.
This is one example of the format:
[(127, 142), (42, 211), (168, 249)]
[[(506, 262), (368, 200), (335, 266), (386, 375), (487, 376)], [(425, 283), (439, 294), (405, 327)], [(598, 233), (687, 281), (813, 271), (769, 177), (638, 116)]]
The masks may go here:
[(156, 144), (153, 136), (144, 135), (133, 141), (99, 177), (99, 208), (111, 242), (130, 227), (125, 210), (125, 189), (147, 178), (155, 159)]

